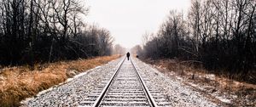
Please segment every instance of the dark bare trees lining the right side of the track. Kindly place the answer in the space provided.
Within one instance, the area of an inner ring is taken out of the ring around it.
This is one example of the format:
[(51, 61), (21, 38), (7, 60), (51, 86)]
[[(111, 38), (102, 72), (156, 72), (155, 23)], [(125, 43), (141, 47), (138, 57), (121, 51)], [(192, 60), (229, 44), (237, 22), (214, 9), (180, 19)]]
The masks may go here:
[(141, 56), (177, 58), (247, 77), (256, 68), (255, 0), (191, 0), (172, 10), (157, 33), (143, 36)]

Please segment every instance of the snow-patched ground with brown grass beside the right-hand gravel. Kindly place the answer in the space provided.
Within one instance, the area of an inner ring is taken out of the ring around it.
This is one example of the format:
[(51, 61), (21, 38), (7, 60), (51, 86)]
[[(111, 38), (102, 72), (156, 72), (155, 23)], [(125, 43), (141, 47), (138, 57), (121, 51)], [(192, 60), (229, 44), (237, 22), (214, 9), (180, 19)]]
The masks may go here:
[[(146, 65), (146, 64), (144, 64)], [(224, 77), (215, 76), (208, 73), (195, 73), (195, 80), (191, 79), (193, 72), (185, 72), (180, 75), (178, 71), (166, 70), (156, 63), (153, 66), (160, 70), (163, 75), (168, 76), (173, 81), (180, 81), (189, 88), (200, 92), (209, 100), (219, 106), (255, 106), (255, 87), (253, 84), (236, 82)], [(254, 90), (254, 91), (253, 91)]]

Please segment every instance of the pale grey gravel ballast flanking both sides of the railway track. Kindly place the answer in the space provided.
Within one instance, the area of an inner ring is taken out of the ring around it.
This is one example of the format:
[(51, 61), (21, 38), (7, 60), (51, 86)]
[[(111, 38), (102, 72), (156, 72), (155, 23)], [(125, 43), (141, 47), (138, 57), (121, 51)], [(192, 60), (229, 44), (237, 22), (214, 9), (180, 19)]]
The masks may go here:
[[(79, 102), (83, 101), (90, 92), (98, 87), (106, 76), (113, 75), (122, 59), (124, 58), (115, 59), (107, 65), (85, 71), (84, 75), (74, 77), (69, 82), (51, 87), (32, 99), (22, 101), (22, 105), (50, 107), (79, 106)], [(160, 90), (161, 93), (166, 95), (172, 106), (218, 106), (201, 95), (201, 93), (183, 84), (183, 82), (165, 76), (165, 74), (139, 59), (133, 58), (132, 61), (143, 77), (148, 89)]]

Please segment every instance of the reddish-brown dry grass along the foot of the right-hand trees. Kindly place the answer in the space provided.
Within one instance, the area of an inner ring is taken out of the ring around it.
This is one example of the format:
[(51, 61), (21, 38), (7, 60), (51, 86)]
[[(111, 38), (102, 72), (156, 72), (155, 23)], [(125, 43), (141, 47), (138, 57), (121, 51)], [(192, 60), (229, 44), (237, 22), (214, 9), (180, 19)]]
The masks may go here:
[[(180, 65), (180, 61), (175, 59), (146, 59), (144, 61), (156, 65), (160, 69), (164, 69), (160, 70), (164, 73), (173, 71), (178, 76), (183, 77), (183, 82), (185, 83), (193, 82), (200, 86), (212, 86), (213, 88), (208, 89), (208, 91), (211, 90), (210, 93), (219, 91), (220, 93), (236, 95), (237, 98), (232, 99), (235, 106), (247, 105), (247, 103), (249, 103), (249, 106), (256, 106), (254, 104), (256, 99), (256, 84), (238, 82), (236, 81), (237, 77), (239, 77), (238, 75), (232, 76), (225, 73), (212, 75), (211, 71), (205, 70), (201, 66), (198, 67), (197, 65), (195, 67), (190, 64)], [(209, 76), (212, 76), (212, 78), (209, 78)], [(236, 78), (236, 80), (232, 78)]]

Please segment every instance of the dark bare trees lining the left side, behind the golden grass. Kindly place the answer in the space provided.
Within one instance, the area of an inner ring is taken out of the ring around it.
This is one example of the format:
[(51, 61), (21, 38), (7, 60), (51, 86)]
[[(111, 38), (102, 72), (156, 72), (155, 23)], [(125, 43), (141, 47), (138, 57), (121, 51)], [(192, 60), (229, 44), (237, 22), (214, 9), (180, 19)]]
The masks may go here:
[(79, 0), (0, 0), (0, 65), (109, 55), (113, 37), (86, 25)]

